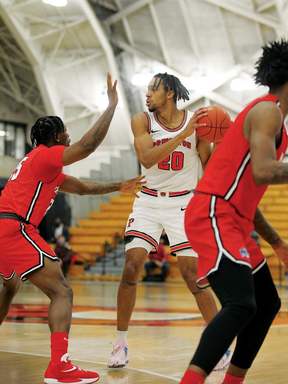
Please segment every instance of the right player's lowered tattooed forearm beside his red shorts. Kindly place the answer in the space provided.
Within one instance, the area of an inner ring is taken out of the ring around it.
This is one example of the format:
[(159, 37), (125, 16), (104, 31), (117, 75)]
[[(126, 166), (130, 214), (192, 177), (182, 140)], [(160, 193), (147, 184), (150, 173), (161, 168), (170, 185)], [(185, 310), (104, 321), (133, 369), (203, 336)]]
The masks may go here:
[(259, 207), (257, 207), (255, 213), (254, 226), (255, 231), (272, 246), (276, 255), (288, 268), (288, 244), (281, 239), (280, 235), (268, 223)]

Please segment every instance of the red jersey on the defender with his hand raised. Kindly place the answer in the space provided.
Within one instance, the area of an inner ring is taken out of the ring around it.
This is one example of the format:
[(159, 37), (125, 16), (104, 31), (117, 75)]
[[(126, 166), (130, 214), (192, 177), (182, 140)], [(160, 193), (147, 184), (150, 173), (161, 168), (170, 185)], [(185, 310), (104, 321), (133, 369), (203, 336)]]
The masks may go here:
[[(0, 213), (14, 213), (38, 227), (66, 178), (66, 175), (61, 172), (62, 155), (65, 148), (65, 146), (48, 148), (41, 144), (29, 152), (19, 163), (2, 191)], [(35, 161), (37, 155), (41, 155), (39, 156), (41, 163)], [(37, 164), (36, 169), (35, 164)], [(47, 177), (47, 170), (51, 174), (50, 180), (53, 179), (48, 183), (43, 181), (44, 175)], [(41, 175), (41, 173), (43, 174), (42, 181), (41, 176), (35, 176)]]

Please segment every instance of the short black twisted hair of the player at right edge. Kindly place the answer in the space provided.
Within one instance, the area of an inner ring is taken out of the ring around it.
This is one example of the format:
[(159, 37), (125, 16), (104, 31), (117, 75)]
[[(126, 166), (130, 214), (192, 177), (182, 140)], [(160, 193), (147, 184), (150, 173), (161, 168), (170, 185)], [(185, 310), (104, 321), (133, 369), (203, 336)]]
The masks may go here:
[(288, 81), (288, 41), (270, 41), (263, 48), (263, 55), (257, 61), (255, 83), (269, 88), (282, 86)]

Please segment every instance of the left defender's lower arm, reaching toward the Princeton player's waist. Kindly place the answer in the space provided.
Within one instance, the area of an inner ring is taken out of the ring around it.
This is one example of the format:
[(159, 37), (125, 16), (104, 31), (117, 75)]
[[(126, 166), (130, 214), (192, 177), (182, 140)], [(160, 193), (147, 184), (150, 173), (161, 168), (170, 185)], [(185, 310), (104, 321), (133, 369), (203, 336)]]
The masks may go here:
[(110, 192), (124, 192), (136, 195), (142, 189), (146, 181), (142, 181), (145, 176), (137, 176), (135, 179), (115, 182), (115, 183), (97, 183), (95, 181), (79, 180), (74, 176), (67, 176), (59, 188), (59, 192), (66, 192), (76, 195), (104, 195)]

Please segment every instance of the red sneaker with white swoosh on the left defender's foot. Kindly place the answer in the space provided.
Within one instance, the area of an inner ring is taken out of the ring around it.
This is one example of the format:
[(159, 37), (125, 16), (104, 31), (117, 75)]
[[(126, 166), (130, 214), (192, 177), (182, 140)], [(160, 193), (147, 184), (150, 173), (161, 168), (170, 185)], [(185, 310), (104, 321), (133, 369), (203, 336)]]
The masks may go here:
[(46, 384), (91, 384), (98, 380), (98, 373), (84, 371), (72, 365), (69, 353), (64, 354), (58, 364), (53, 364), (50, 361), (44, 375), (44, 383)]

